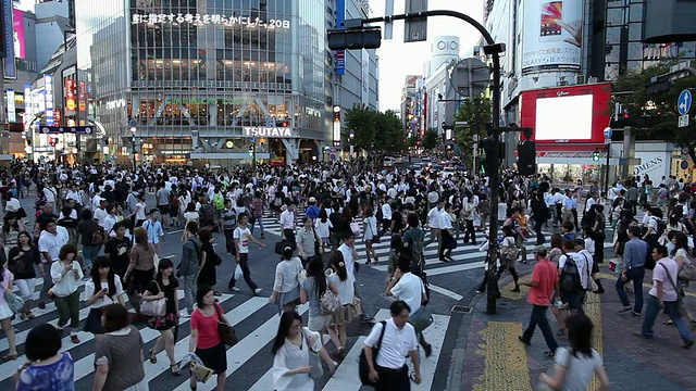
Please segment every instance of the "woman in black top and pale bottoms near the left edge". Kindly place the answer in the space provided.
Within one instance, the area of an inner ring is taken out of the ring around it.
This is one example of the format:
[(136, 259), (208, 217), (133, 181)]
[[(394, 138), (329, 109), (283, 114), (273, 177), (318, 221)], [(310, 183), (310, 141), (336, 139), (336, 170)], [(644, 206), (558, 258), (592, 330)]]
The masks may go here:
[(20, 319), (34, 319), (32, 306), (34, 303), (34, 288), (36, 288), (35, 265), (41, 263), (41, 253), (34, 244), (32, 236), (27, 231), (21, 231), (17, 236), (17, 245), (10, 250), (8, 255), (8, 268), (14, 275), (14, 285), (24, 299), (24, 308), (20, 313)]

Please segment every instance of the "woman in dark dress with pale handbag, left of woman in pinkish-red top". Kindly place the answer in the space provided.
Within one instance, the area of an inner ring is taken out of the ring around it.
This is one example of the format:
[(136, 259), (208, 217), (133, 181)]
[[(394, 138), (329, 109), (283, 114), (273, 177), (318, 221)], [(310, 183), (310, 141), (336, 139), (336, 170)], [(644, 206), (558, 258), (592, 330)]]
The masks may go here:
[(160, 337), (154, 341), (154, 346), (150, 349), (149, 360), (150, 363), (157, 363), (157, 355), (164, 349), (166, 356), (170, 360), (170, 370), (174, 376), (182, 375), (178, 364), (174, 358), (174, 327), (178, 324), (178, 300), (176, 297), (176, 288), (178, 281), (174, 277), (174, 264), (170, 258), (161, 258), (157, 266), (157, 276), (154, 280), (150, 282), (145, 293), (142, 293), (142, 301), (166, 299), (166, 311), (164, 316), (151, 316), (148, 318), (148, 327), (160, 331)]

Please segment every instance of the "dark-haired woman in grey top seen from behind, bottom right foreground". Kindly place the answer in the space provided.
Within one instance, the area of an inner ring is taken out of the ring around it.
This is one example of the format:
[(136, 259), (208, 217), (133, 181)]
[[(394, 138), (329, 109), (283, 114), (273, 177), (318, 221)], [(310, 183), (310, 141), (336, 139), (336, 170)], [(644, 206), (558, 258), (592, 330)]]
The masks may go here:
[(575, 314), (566, 320), (570, 348), (556, 350), (554, 375), (542, 374), (539, 381), (554, 390), (586, 390), (593, 375), (597, 375), (600, 389), (609, 388), (609, 378), (605, 371), (599, 352), (592, 346), (594, 325), (587, 315)]

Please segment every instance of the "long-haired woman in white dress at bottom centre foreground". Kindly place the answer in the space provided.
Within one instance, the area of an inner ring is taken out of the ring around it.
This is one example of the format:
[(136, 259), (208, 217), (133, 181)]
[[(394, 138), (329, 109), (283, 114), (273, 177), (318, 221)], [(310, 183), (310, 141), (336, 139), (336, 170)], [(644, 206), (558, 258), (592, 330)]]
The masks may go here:
[(278, 332), (271, 350), (275, 391), (313, 391), (314, 378), (323, 375), (319, 355), (325, 355), (319, 333), (302, 327), (295, 311), (281, 316)]

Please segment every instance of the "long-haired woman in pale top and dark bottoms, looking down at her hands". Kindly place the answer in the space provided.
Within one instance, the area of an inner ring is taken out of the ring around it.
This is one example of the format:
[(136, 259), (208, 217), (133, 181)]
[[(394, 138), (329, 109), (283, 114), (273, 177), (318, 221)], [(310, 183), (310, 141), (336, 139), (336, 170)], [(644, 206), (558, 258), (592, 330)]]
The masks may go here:
[(83, 331), (91, 332), (95, 337), (104, 333), (101, 315), (104, 306), (119, 303), (124, 304), (124, 290), (121, 277), (111, 268), (109, 256), (100, 255), (91, 267), (90, 279), (85, 283), (85, 302), (89, 305), (89, 314), (85, 319)]

